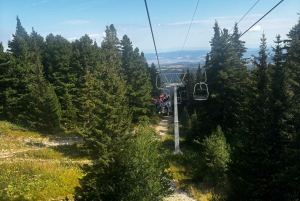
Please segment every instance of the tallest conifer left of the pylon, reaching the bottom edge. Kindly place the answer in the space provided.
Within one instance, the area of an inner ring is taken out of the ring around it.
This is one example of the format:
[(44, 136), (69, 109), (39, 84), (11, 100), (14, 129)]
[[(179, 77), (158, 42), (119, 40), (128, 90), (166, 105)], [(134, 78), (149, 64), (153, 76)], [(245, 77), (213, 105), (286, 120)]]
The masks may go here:
[(88, 130), (82, 135), (92, 165), (83, 169), (75, 200), (116, 200), (120, 153), (129, 139), (131, 118), (126, 97), (118, 39), (113, 25), (106, 28), (101, 44), (100, 69), (95, 77), (92, 111)]

